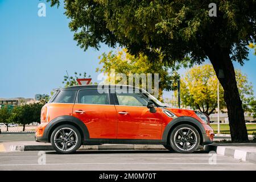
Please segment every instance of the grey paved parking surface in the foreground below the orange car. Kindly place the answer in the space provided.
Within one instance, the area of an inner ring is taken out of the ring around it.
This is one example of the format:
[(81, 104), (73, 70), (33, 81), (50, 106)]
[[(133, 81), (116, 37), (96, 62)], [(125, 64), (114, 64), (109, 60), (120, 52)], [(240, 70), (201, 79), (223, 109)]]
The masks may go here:
[[(54, 151), (0, 153), (0, 170), (256, 170), (256, 164), (228, 156), (168, 151)], [(44, 164), (45, 163), (45, 164)]]

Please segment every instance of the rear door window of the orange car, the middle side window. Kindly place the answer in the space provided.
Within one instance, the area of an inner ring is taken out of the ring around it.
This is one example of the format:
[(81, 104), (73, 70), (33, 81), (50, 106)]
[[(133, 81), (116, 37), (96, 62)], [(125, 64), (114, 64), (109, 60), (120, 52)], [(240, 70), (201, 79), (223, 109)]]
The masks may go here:
[(98, 93), (98, 90), (80, 90), (78, 94), (78, 103), (109, 105), (109, 94)]

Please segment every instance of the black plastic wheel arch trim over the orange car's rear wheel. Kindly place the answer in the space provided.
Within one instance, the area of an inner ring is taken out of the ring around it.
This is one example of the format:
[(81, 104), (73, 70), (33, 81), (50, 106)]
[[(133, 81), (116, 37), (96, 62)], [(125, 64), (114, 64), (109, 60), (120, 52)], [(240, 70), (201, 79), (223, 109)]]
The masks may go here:
[(51, 134), (56, 129), (56, 127), (65, 124), (75, 126), (79, 130), (82, 137), (82, 142), (89, 138), (89, 132), (84, 122), (82, 122), (79, 118), (73, 117), (71, 115), (61, 115), (60, 117), (52, 119), (52, 121), (49, 122), (49, 124), (46, 126), (46, 129), (44, 130), (44, 137), (47, 138), (48, 142), (51, 142)]

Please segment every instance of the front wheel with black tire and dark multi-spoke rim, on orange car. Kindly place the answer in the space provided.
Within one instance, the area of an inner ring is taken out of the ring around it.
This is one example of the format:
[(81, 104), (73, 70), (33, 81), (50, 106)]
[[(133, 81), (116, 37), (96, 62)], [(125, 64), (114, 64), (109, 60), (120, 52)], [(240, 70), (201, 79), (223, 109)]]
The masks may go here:
[(200, 134), (195, 127), (187, 124), (176, 126), (170, 134), (170, 145), (176, 152), (192, 153), (200, 144)]

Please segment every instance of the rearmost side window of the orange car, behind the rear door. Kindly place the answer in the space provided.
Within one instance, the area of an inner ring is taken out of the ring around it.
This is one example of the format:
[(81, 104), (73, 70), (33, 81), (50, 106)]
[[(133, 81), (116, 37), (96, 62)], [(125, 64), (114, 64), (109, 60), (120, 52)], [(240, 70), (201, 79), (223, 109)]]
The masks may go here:
[(75, 97), (76, 91), (74, 90), (60, 90), (53, 103), (74, 103)]

